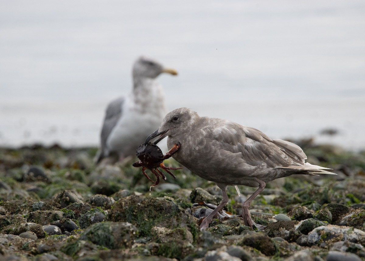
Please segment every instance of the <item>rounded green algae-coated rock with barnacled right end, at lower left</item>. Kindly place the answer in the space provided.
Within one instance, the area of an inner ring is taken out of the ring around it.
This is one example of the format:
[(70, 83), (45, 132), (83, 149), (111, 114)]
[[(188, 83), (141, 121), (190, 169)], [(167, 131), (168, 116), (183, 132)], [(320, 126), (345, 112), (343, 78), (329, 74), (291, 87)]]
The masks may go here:
[(80, 240), (110, 249), (131, 247), (136, 237), (137, 228), (128, 222), (102, 222), (88, 227)]

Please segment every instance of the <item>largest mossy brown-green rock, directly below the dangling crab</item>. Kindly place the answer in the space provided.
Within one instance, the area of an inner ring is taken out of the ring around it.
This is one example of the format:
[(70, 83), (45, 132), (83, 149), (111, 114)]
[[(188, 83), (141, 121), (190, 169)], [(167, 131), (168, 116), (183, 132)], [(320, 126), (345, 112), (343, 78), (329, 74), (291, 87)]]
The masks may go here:
[(141, 237), (151, 236), (152, 227), (189, 228), (197, 234), (197, 228), (192, 216), (166, 198), (150, 198), (128, 196), (121, 198), (108, 215), (110, 221), (124, 221), (134, 224)]

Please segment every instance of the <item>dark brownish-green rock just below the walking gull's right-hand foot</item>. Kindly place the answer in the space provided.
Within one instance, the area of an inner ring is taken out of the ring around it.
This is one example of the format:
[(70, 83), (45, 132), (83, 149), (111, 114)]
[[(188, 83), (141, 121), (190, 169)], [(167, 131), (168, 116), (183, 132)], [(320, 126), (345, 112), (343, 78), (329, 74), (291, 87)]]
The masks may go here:
[(246, 235), (238, 245), (253, 247), (266, 256), (273, 256), (277, 252), (273, 240), (263, 232)]

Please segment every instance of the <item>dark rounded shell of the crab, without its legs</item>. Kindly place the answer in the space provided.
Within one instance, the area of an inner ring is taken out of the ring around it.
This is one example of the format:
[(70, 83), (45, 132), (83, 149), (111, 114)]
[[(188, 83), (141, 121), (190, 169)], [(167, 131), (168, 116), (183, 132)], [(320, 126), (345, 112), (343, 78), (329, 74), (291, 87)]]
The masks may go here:
[(157, 168), (164, 161), (164, 154), (162, 154), (161, 149), (151, 142), (147, 145), (139, 145), (136, 155), (142, 161), (142, 166), (147, 169)]

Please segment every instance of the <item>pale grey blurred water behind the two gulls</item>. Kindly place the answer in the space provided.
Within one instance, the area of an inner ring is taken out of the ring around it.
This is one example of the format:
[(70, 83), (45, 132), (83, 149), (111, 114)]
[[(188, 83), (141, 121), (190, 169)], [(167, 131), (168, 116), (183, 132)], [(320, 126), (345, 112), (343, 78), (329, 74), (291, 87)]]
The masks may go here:
[(169, 110), (365, 148), (363, 0), (1, 0), (0, 146), (97, 146), (142, 54)]

